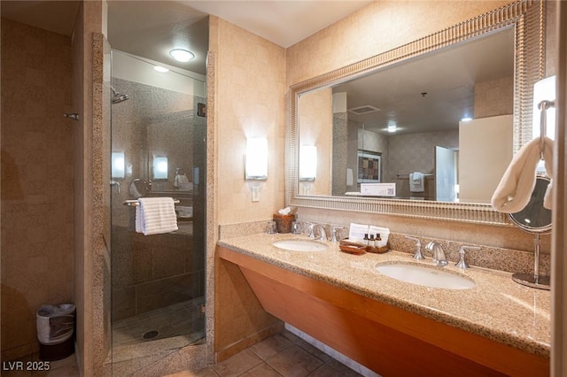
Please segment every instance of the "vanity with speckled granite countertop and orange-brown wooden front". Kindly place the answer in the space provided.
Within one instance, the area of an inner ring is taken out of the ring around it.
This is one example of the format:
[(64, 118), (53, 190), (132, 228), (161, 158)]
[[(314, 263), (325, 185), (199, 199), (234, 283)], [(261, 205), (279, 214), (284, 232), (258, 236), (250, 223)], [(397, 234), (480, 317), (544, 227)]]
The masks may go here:
[[(304, 235), (247, 235), (219, 241), (266, 312), (381, 375), (549, 374), (548, 291), (511, 273), (454, 263), (470, 289), (433, 289), (377, 272), (377, 265), (422, 264), (404, 252), (290, 251), (274, 242)], [(253, 317), (253, 313), (250, 314)]]

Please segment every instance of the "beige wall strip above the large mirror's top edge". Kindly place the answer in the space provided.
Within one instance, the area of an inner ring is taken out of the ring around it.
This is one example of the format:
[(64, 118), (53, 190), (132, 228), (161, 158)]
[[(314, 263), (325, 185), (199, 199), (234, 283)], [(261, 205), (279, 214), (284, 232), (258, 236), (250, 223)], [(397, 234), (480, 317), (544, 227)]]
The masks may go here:
[(287, 50), (286, 81), (289, 85), (299, 83), (509, 3), (512, 2), (374, 2), (291, 46)]

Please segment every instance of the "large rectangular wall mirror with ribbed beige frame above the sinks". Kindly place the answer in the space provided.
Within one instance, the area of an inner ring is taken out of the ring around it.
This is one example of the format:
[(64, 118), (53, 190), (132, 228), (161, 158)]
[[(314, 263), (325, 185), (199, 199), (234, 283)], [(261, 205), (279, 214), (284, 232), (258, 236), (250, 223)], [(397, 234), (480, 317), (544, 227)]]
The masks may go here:
[(291, 86), (286, 203), (509, 226), (490, 196), (532, 138), (544, 14), (518, 1)]

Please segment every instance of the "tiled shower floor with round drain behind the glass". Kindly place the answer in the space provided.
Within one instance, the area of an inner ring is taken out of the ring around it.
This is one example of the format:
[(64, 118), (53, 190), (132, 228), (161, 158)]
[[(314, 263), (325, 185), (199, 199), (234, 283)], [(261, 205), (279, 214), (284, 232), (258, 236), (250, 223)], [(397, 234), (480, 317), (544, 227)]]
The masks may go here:
[(205, 337), (204, 297), (169, 305), (113, 322), (113, 347), (183, 336), (187, 344)]

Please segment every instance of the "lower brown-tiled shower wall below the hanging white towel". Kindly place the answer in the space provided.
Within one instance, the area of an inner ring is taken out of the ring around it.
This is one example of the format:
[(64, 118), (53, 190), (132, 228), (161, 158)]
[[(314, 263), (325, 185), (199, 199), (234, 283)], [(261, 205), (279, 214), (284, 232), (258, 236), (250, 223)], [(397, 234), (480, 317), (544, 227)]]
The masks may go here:
[(205, 256), (191, 239), (113, 227), (113, 321), (204, 295)]

